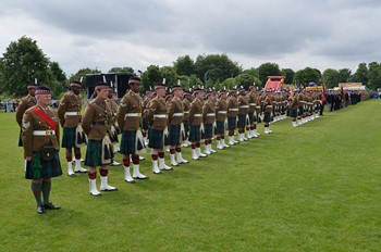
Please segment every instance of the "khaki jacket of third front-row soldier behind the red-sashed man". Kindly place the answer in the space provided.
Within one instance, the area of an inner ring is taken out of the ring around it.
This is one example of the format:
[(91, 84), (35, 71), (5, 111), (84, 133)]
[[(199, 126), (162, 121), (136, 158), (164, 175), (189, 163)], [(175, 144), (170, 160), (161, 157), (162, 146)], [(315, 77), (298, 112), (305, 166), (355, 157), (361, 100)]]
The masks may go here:
[[(160, 117), (159, 117), (160, 116)], [(147, 111), (147, 123), (156, 130), (164, 130), (168, 123), (165, 100), (163, 98), (155, 98), (149, 102)]]

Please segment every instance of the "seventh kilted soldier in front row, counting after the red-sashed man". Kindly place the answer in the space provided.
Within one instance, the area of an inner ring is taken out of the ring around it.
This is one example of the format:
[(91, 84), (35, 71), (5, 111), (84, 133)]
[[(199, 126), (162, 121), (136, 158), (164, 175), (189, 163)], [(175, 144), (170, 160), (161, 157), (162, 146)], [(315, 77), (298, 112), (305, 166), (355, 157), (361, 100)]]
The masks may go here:
[(220, 98), (216, 103), (216, 138), (217, 149), (222, 150), (230, 147), (225, 143), (225, 121), (228, 115), (226, 90), (220, 90), (219, 96)]

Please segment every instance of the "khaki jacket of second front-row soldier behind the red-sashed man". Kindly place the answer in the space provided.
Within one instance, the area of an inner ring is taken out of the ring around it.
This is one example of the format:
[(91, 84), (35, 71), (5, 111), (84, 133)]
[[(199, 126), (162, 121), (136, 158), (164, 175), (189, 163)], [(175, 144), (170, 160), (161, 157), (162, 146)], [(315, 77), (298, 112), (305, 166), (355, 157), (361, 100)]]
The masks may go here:
[[(128, 115), (130, 113), (137, 114)], [(127, 114), (127, 115), (126, 115)], [(140, 126), (142, 98), (130, 90), (121, 100), (118, 111), (118, 125), (121, 130), (137, 130)]]

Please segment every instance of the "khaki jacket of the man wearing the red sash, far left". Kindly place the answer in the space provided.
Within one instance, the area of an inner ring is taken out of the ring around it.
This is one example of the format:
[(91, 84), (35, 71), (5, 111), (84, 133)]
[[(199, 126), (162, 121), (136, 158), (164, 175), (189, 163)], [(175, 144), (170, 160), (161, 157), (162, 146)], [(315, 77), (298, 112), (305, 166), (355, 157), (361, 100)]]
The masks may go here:
[[(44, 111), (42, 108), (37, 105), (33, 108), (38, 108), (41, 111)], [(57, 116), (57, 112), (50, 106), (48, 106), (48, 109), (44, 111), (57, 124), (57, 131), (54, 133), (54, 135), (34, 136), (33, 131), (35, 130), (53, 130), (53, 128), (48, 123), (46, 123), (41, 117), (39, 117), (34, 111), (32, 111), (33, 108), (29, 108), (27, 111), (25, 111), (23, 116), (22, 140), (23, 140), (23, 147), (24, 147), (24, 156), (32, 156), (33, 151), (41, 151), (44, 146), (50, 146), (51, 143), (54, 146), (54, 149), (59, 151), (60, 150), (60, 141), (59, 141), (60, 126), (59, 126), (59, 118)]]

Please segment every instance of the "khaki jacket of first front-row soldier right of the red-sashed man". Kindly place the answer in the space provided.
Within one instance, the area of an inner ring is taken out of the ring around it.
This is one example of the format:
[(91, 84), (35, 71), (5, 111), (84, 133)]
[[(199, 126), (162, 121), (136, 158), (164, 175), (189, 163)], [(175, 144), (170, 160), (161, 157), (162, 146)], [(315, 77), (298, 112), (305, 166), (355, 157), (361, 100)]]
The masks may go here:
[(97, 97), (88, 103), (82, 127), (89, 140), (102, 140), (110, 133), (111, 114), (111, 105), (106, 100)]

